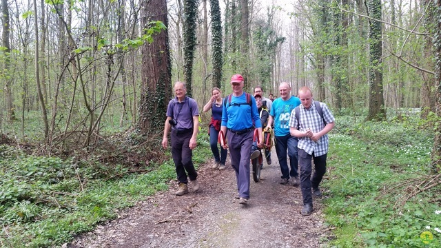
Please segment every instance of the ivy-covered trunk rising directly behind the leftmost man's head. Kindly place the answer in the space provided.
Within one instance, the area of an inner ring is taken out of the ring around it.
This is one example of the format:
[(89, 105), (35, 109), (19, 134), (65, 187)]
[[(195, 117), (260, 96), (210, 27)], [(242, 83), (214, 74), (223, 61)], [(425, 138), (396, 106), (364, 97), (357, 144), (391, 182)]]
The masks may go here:
[(184, 79), (187, 86), (187, 96), (192, 97), (192, 74), (194, 49), (196, 48), (196, 15), (198, 1), (184, 0)]

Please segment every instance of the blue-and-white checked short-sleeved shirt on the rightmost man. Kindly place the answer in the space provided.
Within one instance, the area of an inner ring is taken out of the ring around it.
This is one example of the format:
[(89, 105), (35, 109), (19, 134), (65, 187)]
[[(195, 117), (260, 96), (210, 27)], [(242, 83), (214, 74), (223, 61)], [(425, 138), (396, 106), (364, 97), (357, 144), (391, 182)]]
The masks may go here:
[[(325, 128), (325, 123), (323, 123), (322, 117), (318, 114), (314, 102), (311, 104), (311, 107), (309, 107), (309, 110), (303, 107), (303, 105), (298, 107), (300, 107), (300, 112), (298, 114), (300, 121), (296, 118), (295, 110), (292, 110), (291, 118), (289, 119), (289, 127), (298, 127), (298, 130), (300, 131), (306, 131), (310, 128), (314, 133), (320, 132)], [(327, 105), (325, 103), (320, 103), (320, 107), (322, 107), (325, 122), (333, 123), (335, 118), (329, 111)], [(312, 141), (309, 137), (298, 138), (298, 149), (304, 149), (309, 155), (312, 155), (314, 152), (314, 156), (316, 157), (327, 154), (329, 149), (328, 134), (321, 136), (317, 142)]]

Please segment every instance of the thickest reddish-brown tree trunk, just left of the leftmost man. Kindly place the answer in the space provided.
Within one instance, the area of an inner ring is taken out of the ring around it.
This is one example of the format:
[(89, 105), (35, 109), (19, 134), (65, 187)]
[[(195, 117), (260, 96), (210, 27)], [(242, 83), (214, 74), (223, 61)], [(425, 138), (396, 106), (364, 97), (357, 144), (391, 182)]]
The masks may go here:
[[(168, 28), (167, 1), (151, 0), (144, 3), (143, 27), (149, 28), (150, 21), (162, 21)], [(141, 49), (143, 66), (138, 126), (142, 134), (163, 131), (167, 105), (173, 97), (168, 42), (168, 32), (162, 31), (153, 37), (152, 43), (145, 43)]]

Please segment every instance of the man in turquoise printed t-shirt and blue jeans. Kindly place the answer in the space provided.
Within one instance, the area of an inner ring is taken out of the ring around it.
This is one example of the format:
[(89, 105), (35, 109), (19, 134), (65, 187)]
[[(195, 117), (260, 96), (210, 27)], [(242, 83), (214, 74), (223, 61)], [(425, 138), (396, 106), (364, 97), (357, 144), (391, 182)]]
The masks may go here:
[[(291, 86), (288, 83), (280, 83), (278, 87), (280, 97), (274, 100), (269, 112), (267, 128), (271, 128), (274, 121), (274, 138), (276, 138), (276, 153), (282, 176), (280, 184), (287, 184), (289, 177), (292, 178), (292, 184), (298, 185), (298, 138), (289, 133), (289, 118), (295, 107), (300, 105), (300, 99), (291, 96)], [(288, 151), (288, 154), (287, 154)], [(289, 156), (289, 171), (287, 155)]]

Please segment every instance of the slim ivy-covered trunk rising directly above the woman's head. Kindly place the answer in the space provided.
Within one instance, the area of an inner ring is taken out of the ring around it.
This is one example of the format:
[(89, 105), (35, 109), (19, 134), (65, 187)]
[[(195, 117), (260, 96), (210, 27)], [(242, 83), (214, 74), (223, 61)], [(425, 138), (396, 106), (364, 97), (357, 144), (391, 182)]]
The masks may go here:
[(219, 0), (209, 1), (210, 12), (212, 13), (212, 63), (213, 63), (213, 85), (222, 87), (222, 20), (220, 19)]

